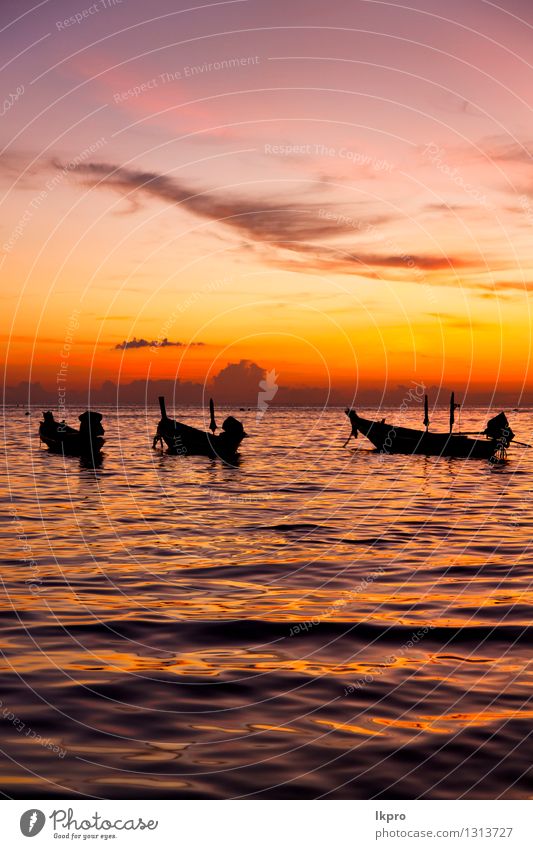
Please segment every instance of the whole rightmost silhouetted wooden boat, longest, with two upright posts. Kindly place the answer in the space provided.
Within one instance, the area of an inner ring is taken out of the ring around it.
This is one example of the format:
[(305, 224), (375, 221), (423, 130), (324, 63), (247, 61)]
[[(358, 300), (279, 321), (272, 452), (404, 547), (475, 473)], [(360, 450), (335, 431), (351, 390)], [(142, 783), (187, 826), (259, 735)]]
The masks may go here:
[(454, 411), (458, 406), (452, 393), (448, 433), (429, 432), (427, 396), (425, 430), (398, 427), (387, 423), (385, 419), (379, 422), (371, 421), (357, 415), (352, 409), (345, 412), (352, 424), (350, 437), (357, 437), (360, 431), (382, 454), (425, 454), (430, 457), (460, 457), (493, 462), (504, 460), (507, 448), (514, 439), (505, 413), (498, 413), (490, 419), (485, 430), (478, 433), (453, 433)]

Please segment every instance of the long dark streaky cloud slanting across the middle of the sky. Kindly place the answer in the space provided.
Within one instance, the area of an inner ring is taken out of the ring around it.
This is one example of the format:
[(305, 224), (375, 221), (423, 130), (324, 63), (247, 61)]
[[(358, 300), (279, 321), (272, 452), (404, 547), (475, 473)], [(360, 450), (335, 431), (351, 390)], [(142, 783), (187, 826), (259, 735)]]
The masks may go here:
[[(57, 167), (60, 167), (58, 164)], [(350, 205), (352, 216), (339, 212), (342, 205), (326, 206), (301, 200), (287, 203), (265, 199), (229, 196), (216, 191), (194, 191), (173, 177), (152, 171), (138, 171), (109, 163), (81, 163), (76, 169), (93, 187), (110, 188), (138, 208), (140, 196), (156, 198), (179, 206), (200, 218), (222, 224), (247, 240), (244, 247), (260, 251), (264, 259), (284, 268), (301, 271), (329, 271), (337, 274), (364, 272), (366, 277), (382, 277), (381, 270), (401, 270), (416, 277), (420, 272), (482, 268), (480, 260), (443, 254), (378, 254), (323, 242), (350, 234), (375, 233), (378, 225), (396, 220), (389, 215), (366, 216)], [(266, 252), (266, 253), (265, 253)], [(402, 275), (403, 276), (403, 275)], [(397, 279), (395, 277), (394, 279)], [(150, 343), (147, 343), (150, 344)]]

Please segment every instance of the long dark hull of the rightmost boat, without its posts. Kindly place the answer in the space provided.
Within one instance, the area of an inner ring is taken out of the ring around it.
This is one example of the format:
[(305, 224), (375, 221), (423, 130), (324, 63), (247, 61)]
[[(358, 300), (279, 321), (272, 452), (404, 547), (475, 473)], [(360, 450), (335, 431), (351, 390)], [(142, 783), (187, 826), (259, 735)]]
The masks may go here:
[(428, 433), (356, 417), (355, 427), (382, 454), (422, 454), (427, 457), (458, 457), (490, 460), (499, 445), (493, 439), (470, 439), (449, 433)]

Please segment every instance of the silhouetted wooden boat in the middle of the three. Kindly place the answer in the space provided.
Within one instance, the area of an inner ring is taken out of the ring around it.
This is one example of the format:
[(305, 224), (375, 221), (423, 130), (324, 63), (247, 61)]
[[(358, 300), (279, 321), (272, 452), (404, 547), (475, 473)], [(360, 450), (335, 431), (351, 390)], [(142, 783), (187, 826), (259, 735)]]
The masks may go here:
[(157, 425), (152, 447), (155, 448), (158, 442), (161, 446), (165, 443), (171, 454), (185, 456), (200, 454), (206, 457), (228, 459), (235, 456), (242, 440), (248, 436), (242, 423), (233, 416), (228, 416), (224, 420), (222, 433), (215, 436), (217, 425), (212, 399), (210, 401), (210, 428), (212, 433), (170, 419), (167, 416), (163, 396), (159, 398), (159, 407), (161, 408), (161, 419)]

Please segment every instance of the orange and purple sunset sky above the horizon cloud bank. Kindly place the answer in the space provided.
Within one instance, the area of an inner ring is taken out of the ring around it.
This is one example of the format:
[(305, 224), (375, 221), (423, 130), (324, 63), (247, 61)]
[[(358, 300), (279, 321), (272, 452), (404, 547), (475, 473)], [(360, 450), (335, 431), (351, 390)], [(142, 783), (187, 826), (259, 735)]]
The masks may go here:
[(3, 0), (0, 39), (8, 384), (533, 388), (531, 0)]

